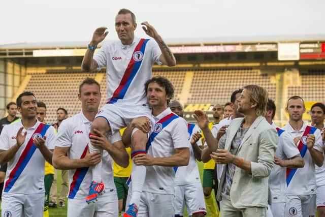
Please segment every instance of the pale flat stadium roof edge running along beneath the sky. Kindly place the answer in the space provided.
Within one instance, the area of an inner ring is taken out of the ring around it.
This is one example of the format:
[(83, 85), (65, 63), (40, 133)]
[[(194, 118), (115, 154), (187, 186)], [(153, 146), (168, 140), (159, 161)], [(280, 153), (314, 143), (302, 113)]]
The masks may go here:
[[(207, 37), (207, 38), (175, 38), (166, 39), (169, 45), (191, 45), (191, 44), (241, 44), (241, 43), (276, 43), (290, 41), (324, 41), (325, 35), (283, 35), (283, 36), (231, 36), (231, 37)], [(107, 43), (109, 41), (105, 41)], [(84, 48), (89, 41), (75, 42), (36, 42), (36, 43), (14, 43), (0, 45), (0, 49), (15, 48)]]

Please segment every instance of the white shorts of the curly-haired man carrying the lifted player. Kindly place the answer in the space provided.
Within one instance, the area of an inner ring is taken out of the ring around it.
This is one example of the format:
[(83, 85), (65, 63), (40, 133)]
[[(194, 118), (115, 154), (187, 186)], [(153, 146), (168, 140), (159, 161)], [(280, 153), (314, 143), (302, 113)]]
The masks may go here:
[[(128, 191), (126, 204), (129, 204), (132, 191)], [(142, 192), (140, 197), (138, 217), (174, 217), (175, 196)]]

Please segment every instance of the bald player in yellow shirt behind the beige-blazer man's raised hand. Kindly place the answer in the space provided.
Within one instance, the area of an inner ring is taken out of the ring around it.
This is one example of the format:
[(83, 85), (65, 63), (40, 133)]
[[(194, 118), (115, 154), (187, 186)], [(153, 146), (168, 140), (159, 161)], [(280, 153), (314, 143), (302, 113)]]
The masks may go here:
[[(212, 129), (213, 125), (219, 123), (220, 120), (223, 118), (223, 111), (224, 111), (223, 106), (217, 104), (213, 107), (212, 111), (213, 111), (213, 122), (209, 123), (210, 130)], [(204, 137), (202, 138), (202, 140), (204, 140)], [(204, 144), (204, 141), (202, 141), (202, 144)], [(215, 174), (215, 162), (211, 159), (210, 161), (208, 161), (203, 165), (202, 187), (203, 187), (205, 204), (207, 208), (210, 209), (211, 216), (217, 217), (220, 211), (216, 205), (217, 204), (216, 201), (213, 200), (213, 197), (211, 195), (212, 189), (214, 188), (214, 180), (217, 181), (216, 174)]]

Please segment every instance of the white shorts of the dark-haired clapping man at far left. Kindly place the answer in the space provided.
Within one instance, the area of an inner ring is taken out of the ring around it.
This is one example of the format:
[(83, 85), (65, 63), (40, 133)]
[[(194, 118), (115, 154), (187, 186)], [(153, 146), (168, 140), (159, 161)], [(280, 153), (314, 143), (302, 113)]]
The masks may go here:
[(44, 199), (44, 193), (3, 193), (1, 216), (43, 217)]

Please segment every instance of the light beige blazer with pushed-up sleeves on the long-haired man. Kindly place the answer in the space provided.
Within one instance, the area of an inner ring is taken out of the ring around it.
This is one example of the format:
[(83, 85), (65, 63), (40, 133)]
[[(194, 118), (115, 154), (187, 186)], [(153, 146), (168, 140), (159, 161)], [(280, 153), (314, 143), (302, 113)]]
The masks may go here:
[[(231, 149), (232, 141), (244, 118), (235, 118), (225, 135), (218, 143), (218, 148)], [(249, 172), (236, 167), (230, 199), (235, 208), (267, 207), (269, 175), (274, 165), (274, 153), (278, 144), (278, 134), (263, 116), (258, 116), (252, 123), (237, 151), (237, 156), (251, 162)], [(227, 165), (222, 166), (217, 200), (221, 200), (221, 192), (225, 181)]]

